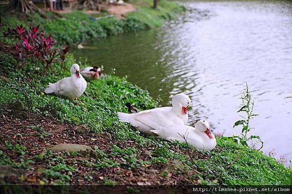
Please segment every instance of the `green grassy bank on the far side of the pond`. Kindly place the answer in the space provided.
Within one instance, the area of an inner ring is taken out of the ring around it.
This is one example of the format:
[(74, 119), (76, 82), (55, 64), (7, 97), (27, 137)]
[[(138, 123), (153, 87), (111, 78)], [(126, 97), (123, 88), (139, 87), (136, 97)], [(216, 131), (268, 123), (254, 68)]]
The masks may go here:
[[(24, 26), (41, 25), (48, 34), (54, 34), (54, 38), (60, 45), (74, 44), (91, 39), (104, 38), (108, 35), (147, 30), (161, 26), (165, 20), (169, 20), (182, 13), (184, 8), (177, 3), (161, 0), (158, 9), (154, 10), (151, 6), (152, 0), (133, 0), (131, 1), (137, 8), (136, 12), (126, 14), (124, 19), (115, 17), (104, 18), (93, 21), (92, 17), (80, 11), (73, 11), (63, 14), (62, 17), (54, 18), (48, 22), (38, 14), (24, 18), (23, 16), (2, 16), (4, 23), (14, 26), (15, 23), (22, 23)], [(54, 14), (49, 13), (49, 16)], [(105, 16), (106, 14), (102, 14)]]

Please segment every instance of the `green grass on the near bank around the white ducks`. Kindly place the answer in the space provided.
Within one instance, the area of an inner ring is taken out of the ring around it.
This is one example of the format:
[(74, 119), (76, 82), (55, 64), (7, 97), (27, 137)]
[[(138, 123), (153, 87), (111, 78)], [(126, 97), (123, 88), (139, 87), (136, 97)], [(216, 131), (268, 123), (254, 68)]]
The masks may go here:
[[(6, 61), (4, 65), (5, 73), (11, 67), (11, 57), (1, 55), (1, 59)], [(72, 55), (66, 59), (67, 69), (70, 64), (74, 63)], [(55, 71), (58, 66), (55, 64)], [(33, 69), (33, 67), (31, 67)], [(124, 106), (130, 101), (141, 110), (157, 107), (158, 102), (149, 97), (149, 94), (135, 86), (123, 78), (112, 75), (105, 76), (99, 80), (88, 83), (87, 90), (82, 97), (79, 98), (79, 105), (76, 106), (74, 101), (61, 97), (43, 95), (42, 92), (48, 82), (57, 81), (64, 76), (69, 76), (69, 71), (61, 71), (60, 74), (50, 74), (44, 78), (40, 78), (33, 71), (26, 74), (27, 70), (23, 69), (17, 73), (8, 74), (8, 83), (0, 81), (0, 103), (1, 107), (5, 107), (9, 102), (21, 100), (25, 104), (26, 110), (30, 107), (33, 113), (39, 116), (52, 116), (48, 111), (39, 111), (42, 107), (49, 107), (56, 110), (55, 116), (59, 122), (72, 124), (88, 124), (91, 132), (107, 131), (110, 132), (112, 138), (118, 142), (133, 141), (139, 147), (111, 146), (108, 153), (104, 153), (97, 147), (95, 152), (99, 157), (95, 162), (85, 162), (84, 165), (91, 166), (96, 169), (111, 168), (120, 166), (126, 169), (137, 169), (146, 165), (159, 165), (172, 160), (179, 160), (184, 165), (184, 175), (189, 179), (201, 179), (201, 184), (291, 184), (291, 170), (282, 164), (278, 164), (274, 158), (265, 156), (262, 152), (238, 145), (234, 142), (217, 138), (218, 146), (212, 151), (195, 150), (195, 164), (191, 162), (187, 154), (178, 153), (177, 146), (181, 150), (186, 150), (185, 144), (169, 143), (154, 136), (145, 136), (128, 124), (121, 123), (118, 120), (116, 112), (126, 112)], [(27, 78), (34, 80), (28, 84)], [(19, 83), (18, 78), (22, 80)], [(24, 92), (21, 91), (24, 85), (30, 88), (27, 96), (32, 98), (31, 104), (25, 99)], [(41, 131), (39, 127), (32, 127)], [(18, 146), (19, 147), (19, 146)], [(143, 161), (139, 158), (139, 154), (143, 149), (154, 147), (152, 150), (151, 160)], [(141, 149), (140, 149), (141, 148)], [(22, 149), (16, 149), (22, 150)], [(25, 150), (25, 149), (24, 149)], [(23, 153), (21, 154), (23, 157)], [(9, 159), (3, 154), (0, 157), (9, 163)], [(60, 174), (59, 171), (73, 171), (61, 159), (50, 156), (50, 160), (57, 161), (54, 166), (49, 166), (43, 171), (47, 178), (55, 178), (60, 182), (56, 184), (68, 184), (70, 175)], [(232, 163), (238, 157), (237, 161)], [(57, 157), (58, 158), (58, 157)], [(115, 158), (122, 161), (116, 161)], [(26, 163), (25, 161), (22, 163)], [(19, 164), (20, 165), (20, 164)], [(199, 174), (189, 175), (186, 172), (195, 168), (200, 171)], [(90, 177), (86, 177), (91, 179)], [(104, 181), (104, 184), (116, 184), (111, 180)]]

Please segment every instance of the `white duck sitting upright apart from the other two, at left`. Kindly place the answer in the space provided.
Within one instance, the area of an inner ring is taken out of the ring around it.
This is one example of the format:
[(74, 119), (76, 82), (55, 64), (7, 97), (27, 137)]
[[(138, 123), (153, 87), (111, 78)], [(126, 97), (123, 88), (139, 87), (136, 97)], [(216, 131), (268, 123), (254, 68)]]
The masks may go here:
[(70, 71), (71, 77), (63, 78), (55, 83), (49, 83), (48, 87), (45, 89), (45, 93), (55, 93), (57, 96), (71, 99), (80, 97), (84, 93), (87, 83), (82, 75), (80, 75), (79, 65), (72, 65)]

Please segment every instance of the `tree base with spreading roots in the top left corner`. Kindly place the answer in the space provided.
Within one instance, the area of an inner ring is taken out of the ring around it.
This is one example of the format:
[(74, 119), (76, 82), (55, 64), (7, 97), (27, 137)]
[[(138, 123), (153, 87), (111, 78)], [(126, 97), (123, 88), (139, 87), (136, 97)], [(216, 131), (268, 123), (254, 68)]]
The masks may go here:
[(7, 11), (20, 11), (25, 14), (37, 12), (42, 17), (47, 18), (46, 13), (29, 0), (10, 0), (7, 6)]

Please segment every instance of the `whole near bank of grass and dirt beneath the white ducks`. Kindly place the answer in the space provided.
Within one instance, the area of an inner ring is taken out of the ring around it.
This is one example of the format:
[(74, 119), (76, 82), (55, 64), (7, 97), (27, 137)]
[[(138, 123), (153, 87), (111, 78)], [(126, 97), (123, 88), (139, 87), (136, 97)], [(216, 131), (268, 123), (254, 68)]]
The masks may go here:
[[(26, 184), (31, 178), (37, 178), (35, 184), (69, 184), (76, 183), (77, 177), (88, 184), (126, 184), (125, 180), (129, 184), (146, 184), (146, 180), (150, 184), (172, 184), (175, 178), (180, 177), (176, 180), (177, 184), (291, 184), (289, 168), (278, 164), (274, 158), (267, 157), (262, 152), (223, 140), (221, 137), (217, 137), (218, 146), (214, 150), (191, 149), (189, 155), (185, 144), (169, 143), (152, 135), (146, 136), (130, 125), (119, 122), (116, 112), (126, 112), (124, 105), (128, 101), (141, 110), (158, 105), (146, 91), (125, 79), (109, 75), (89, 82), (85, 94), (79, 98), (79, 105), (76, 105), (72, 100), (43, 95), (46, 84), (69, 76), (68, 70), (61, 71), (58, 76), (49, 74), (41, 78), (37, 71), (24, 69), (12, 72), (9, 67), (14, 65), (15, 60), (7, 55), (1, 55), (1, 61), (5, 62), (1, 75), (8, 79), (8, 82), (0, 81), (1, 113), (5, 117), (1, 119), (4, 125), (0, 128), (5, 131), (3, 134), (6, 134), (0, 137), (0, 144), (6, 151), (0, 152), (1, 165), (12, 166), (21, 173), (38, 172), (38, 176), (31, 175), (22, 178), (23, 180), (19, 178), (16, 182), (22, 181), (21, 183)], [(73, 56), (68, 56), (67, 69), (73, 63)], [(37, 64), (32, 65), (30, 69), (35, 69), (35, 65)], [(55, 64), (55, 71), (59, 72), (58, 68)], [(10, 129), (10, 132), (7, 132), (5, 125), (10, 126), (9, 119), (14, 120), (20, 116), (21, 122), (34, 121), (27, 117), (23, 119), (23, 114), (18, 115), (13, 110), (6, 110), (7, 105), (18, 100), (24, 105), (24, 112), (34, 113), (31, 116), (37, 121), (44, 117), (52, 118), (54, 126), (68, 125), (67, 128), (72, 129), (74, 126), (87, 124), (90, 133), (77, 135), (68, 132), (69, 137), (66, 140), (71, 141), (70, 137), (74, 137), (79, 139), (74, 139), (75, 143), (86, 141), (84, 144), (95, 147), (97, 157), (91, 158), (89, 153), (83, 153), (81, 156), (85, 159), (82, 162), (70, 162), (69, 159), (74, 160), (80, 156), (75, 156), (76, 153), (50, 151), (44, 155), (42, 149), (56, 142), (65, 142), (61, 137), (66, 132), (58, 134), (57, 130), (48, 124), (32, 123), (26, 124), (24, 128), (14, 126), (16, 131)], [(96, 134), (105, 132), (110, 134), (109, 139), (105, 140), (98, 135), (96, 137)], [(27, 145), (21, 141), (24, 137), (31, 139), (30, 141), (35, 140), (37, 144)], [(9, 151), (14, 153), (13, 157), (5, 155)], [(32, 155), (32, 151), (35, 154)], [(105, 175), (109, 169), (115, 169), (117, 172)], [(155, 170), (155, 175), (148, 174), (150, 170)], [(136, 176), (125, 179), (125, 171)], [(141, 176), (137, 172), (144, 174)], [(80, 173), (84, 173), (81, 178)], [(123, 176), (117, 176), (119, 174)]]

